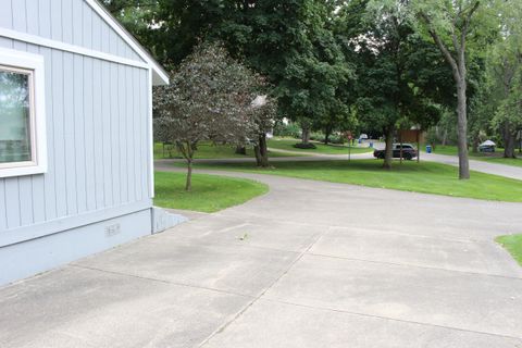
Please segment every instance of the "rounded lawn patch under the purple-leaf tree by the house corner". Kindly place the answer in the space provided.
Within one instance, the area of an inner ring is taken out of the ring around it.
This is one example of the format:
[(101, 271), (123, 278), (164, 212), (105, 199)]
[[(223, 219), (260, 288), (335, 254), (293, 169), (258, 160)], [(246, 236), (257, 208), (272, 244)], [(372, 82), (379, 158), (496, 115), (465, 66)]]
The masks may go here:
[(185, 173), (156, 172), (154, 206), (211, 213), (269, 191), (266, 185), (254, 181), (192, 174), (192, 190), (187, 192), (185, 178)]

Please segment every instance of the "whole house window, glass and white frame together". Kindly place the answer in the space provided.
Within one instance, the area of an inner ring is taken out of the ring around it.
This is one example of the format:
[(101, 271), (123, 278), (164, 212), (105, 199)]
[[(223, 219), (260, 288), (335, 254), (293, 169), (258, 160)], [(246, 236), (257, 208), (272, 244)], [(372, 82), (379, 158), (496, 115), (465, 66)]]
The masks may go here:
[(44, 59), (0, 49), (0, 177), (45, 173)]

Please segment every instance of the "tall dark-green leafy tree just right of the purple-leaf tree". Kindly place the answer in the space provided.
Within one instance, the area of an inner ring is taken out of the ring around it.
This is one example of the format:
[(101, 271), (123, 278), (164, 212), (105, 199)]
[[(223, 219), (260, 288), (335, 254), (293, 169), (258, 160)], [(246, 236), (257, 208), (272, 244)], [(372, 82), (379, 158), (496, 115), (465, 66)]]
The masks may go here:
[(308, 142), (322, 117), (346, 114), (341, 89), (352, 72), (332, 32), (335, 5), (319, 0), (243, 2), (248, 5), (239, 7), (234, 25), (225, 22), (221, 33), (274, 85), (279, 115), (300, 122)]

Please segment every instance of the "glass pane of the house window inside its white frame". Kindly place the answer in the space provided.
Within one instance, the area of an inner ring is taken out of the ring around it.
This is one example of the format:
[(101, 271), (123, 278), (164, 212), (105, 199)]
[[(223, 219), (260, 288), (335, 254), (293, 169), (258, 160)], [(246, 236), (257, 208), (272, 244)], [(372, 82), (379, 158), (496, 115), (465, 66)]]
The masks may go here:
[(0, 163), (32, 161), (30, 71), (0, 66)]

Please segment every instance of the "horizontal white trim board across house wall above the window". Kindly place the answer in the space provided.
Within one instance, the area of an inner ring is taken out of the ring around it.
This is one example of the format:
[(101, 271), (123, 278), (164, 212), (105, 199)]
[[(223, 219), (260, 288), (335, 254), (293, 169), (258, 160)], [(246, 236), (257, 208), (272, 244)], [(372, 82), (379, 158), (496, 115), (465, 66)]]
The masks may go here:
[(100, 51), (94, 51), (89, 50), (87, 48), (80, 47), (80, 46), (75, 46), (75, 45), (70, 45), (65, 44), (62, 41), (57, 41), (57, 40), (51, 40), (51, 39), (46, 39), (36, 35), (30, 35), (26, 33), (21, 33), (21, 32), (15, 32), (11, 29), (5, 29), (5, 28), (0, 28), (0, 36), (5, 37), (9, 39), (13, 40), (18, 40), (18, 41), (24, 41), (27, 44), (33, 44), (33, 45), (38, 45), (38, 46), (44, 46), (47, 48), (52, 48), (65, 52), (71, 52), (71, 53), (76, 53), (80, 55), (86, 55), (86, 57), (91, 57), (113, 63), (119, 63), (123, 65), (129, 65), (129, 66), (136, 66), (136, 67), (141, 67), (141, 69), (149, 69), (149, 65), (144, 62), (138, 62), (134, 60), (129, 60), (126, 58), (117, 57), (114, 54), (109, 54)]

